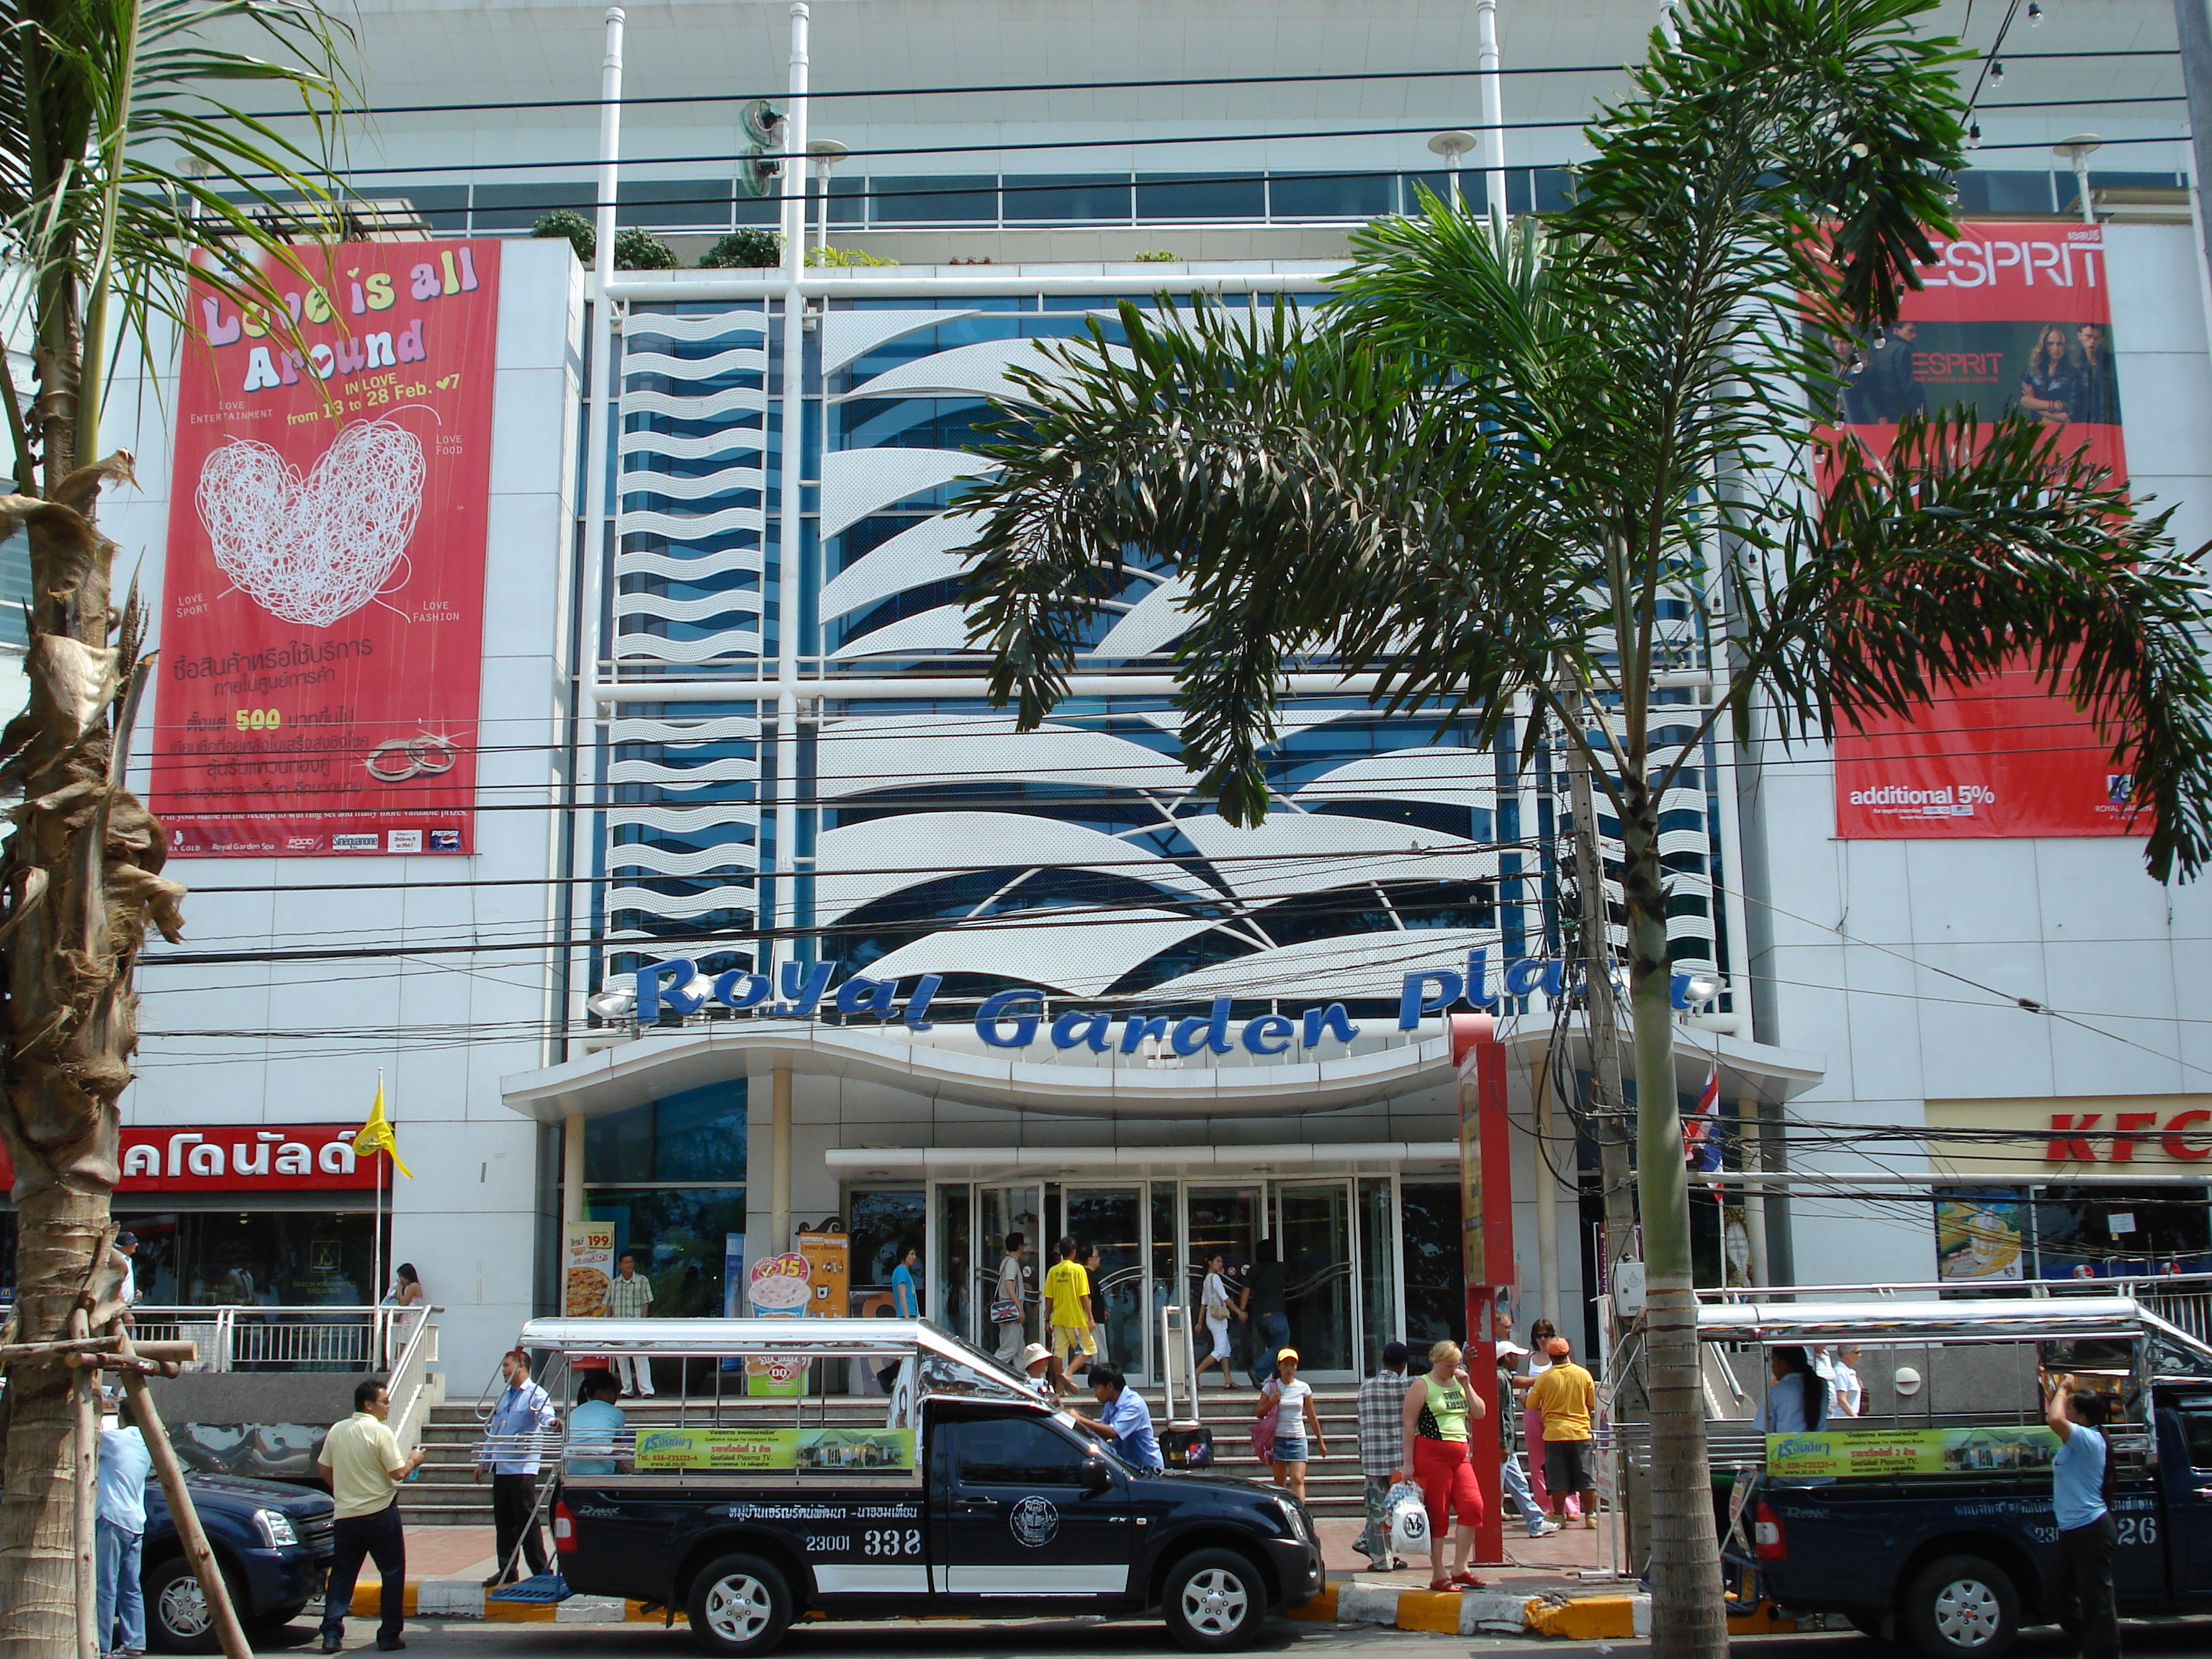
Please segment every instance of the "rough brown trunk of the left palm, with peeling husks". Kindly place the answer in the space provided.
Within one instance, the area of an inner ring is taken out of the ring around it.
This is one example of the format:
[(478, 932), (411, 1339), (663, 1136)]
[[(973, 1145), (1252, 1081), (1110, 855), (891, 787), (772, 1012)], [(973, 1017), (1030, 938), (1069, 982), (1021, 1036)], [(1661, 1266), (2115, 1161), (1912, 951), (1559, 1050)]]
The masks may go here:
[[(117, 462), (126, 469), (126, 462)], [(60, 484), (91, 500), (97, 476)], [(153, 911), (177, 936), (181, 889), (157, 872), (161, 825), (111, 776), (113, 710), (131, 684), (108, 644), (115, 544), (62, 502), (0, 500), (0, 529), (29, 529), (29, 708), (0, 734), (0, 783), (22, 790), (0, 849), (7, 1068), (0, 1139), (15, 1161), (15, 1285), (22, 1340), (66, 1334), (108, 1225), (117, 1177), (115, 1099), (131, 1082), (137, 995), (131, 973)], [(126, 639), (135, 635), (126, 622)], [(124, 730), (122, 741), (128, 741)], [(100, 1314), (104, 1316), (104, 1314)], [(9, 1378), (7, 1493), (0, 1498), (0, 1659), (58, 1659), (75, 1646), (73, 1402), (69, 1371)]]

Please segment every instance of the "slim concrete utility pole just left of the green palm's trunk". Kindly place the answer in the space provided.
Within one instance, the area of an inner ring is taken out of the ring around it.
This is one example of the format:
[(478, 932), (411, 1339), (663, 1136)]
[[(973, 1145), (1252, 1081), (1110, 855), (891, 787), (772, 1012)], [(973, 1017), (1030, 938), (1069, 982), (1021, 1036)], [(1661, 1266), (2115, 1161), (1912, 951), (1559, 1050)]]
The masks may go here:
[[(1575, 719), (1604, 719), (1579, 695), (1566, 699)], [(1635, 1256), (1637, 1177), (1628, 1159), (1635, 1133), (1621, 1099), (1621, 1046), (1613, 989), (1613, 933), (1606, 916), (1606, 856), (1597, 838), (1597, 792), (1590, 785), (1590, 759), (1584, 745), (1566, 745), (1568, 805), (1575, 814), (1575, 894), (1579, 896), (1582, 931), (1582, 1004), (1590, 1033), (1590, 1135), (1597, 1141), (1597, 1172), (1606, 1199), (1606, 1292), (1619, 1283), (1619, 1265)], [(1613, 1369), (1608, 1356), (1608, 1371)], [(1628, 1367), (1613, 1396), (1617, 1425), (1650, 1422), (1650, 1400), (1635, 1367)], [(1626, 1436), (1624, 1436), (1626, 1440)], [(1628, 1559), (1650, 1555), (1650, 1500), (1646, 1473), (1621, 1455), (1621, 1509), (1628, 1522)]]

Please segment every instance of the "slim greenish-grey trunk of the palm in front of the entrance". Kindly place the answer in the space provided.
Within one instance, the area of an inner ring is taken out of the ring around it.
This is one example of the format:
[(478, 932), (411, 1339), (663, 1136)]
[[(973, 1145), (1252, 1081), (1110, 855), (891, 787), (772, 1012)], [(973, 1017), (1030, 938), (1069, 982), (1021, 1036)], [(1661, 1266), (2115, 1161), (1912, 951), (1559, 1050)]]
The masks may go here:
[(1721, 1659), (1721, 1544), (1705, 1467), (1705, 1394), (1690, 1276), (1690, 1181), (1674, 1104), (1674, 969), (1666, 947), (1659, 803), (1628, 783), (1621, 818), (1628, 1002), (1637, 1051), (1637, 1201), (1644, 1219), (1644, 1367), (1652, 1422), (1652, 1655)]

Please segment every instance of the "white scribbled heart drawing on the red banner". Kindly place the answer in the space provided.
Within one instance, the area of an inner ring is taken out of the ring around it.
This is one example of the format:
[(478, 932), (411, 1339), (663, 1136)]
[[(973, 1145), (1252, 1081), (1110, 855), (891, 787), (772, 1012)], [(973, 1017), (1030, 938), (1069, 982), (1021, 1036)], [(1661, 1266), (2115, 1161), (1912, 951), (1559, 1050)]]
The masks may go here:
[(301, 476), (248, 438), (199, 469), (199, 522), (223, 575), (285, 622), (327, 628), (385, 591), (422, 513), (422, 445), (356, 420)]

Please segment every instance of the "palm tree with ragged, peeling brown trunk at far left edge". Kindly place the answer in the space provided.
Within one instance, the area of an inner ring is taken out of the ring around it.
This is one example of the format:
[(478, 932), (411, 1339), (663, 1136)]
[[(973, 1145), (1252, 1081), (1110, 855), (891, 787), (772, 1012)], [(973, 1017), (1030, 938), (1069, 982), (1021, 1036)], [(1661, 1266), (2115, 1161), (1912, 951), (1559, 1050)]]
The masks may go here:
[[(100, 489), (131, 482), (126, 451), (100, 453), (102, 400), (126, 347), (166, 372), (157, 343), (166, 325), (181, 336), (192, 276), (281, 330), (272, 276), (299, 270), (285, 241), (334, 223), (321, 181), (345, 82), (343, 29), (314, 0), (0, 0), (0, 270), (22, 294), (35, 378), (27, 398), (0, 365), (18, 491), (0, 498), (0, 531), (27, 535), (33, 593), (31, 701), (0, 734), (0, 785), (24, 801), (0, 849), (0, 1139), (15, 1161), (11, 1327), (49, 1340), (102, 1283), (133, 964), (148, 918), (179, 936), (184, 896), (161, 876), (161, 825), (122, 787), (150, 657), (137, 593), (115, 608), (115, 544), (95, 524)], [(272, 93), (301, 102), (296, 135), (230, 102)], [(108, 1287), (88, 1316), (113, 1314)], [(7, 1655), (75, 1639), (75, 1409), (60, 1367), (11, 1369)]]

